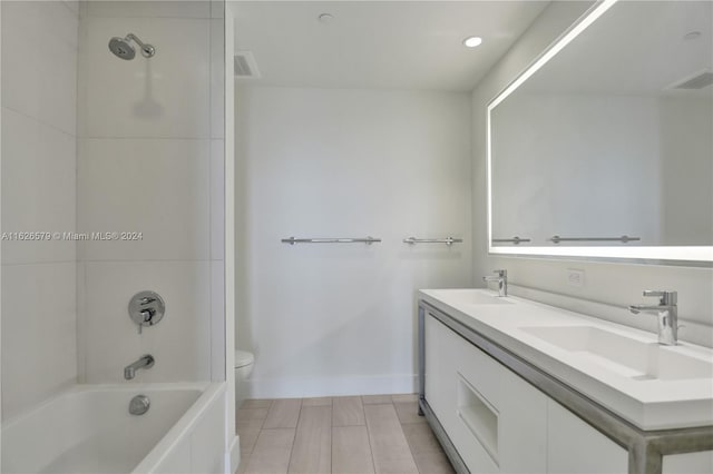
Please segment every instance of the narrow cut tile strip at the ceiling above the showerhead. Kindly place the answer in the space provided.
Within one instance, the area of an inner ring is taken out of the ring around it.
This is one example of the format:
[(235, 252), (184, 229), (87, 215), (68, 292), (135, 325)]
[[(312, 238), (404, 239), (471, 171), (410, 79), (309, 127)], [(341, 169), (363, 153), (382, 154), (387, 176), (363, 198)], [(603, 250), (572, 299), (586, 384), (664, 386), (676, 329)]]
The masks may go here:
[(211, 1), (88, 1), (87, 12), (100, 18), (211, 18)]

